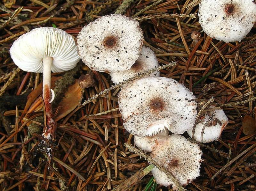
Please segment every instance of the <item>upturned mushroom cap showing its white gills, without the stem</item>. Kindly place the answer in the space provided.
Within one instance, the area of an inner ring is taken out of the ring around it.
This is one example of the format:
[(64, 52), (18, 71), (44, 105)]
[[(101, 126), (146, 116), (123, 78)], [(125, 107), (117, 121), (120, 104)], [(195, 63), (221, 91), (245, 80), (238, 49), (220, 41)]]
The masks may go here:
[(43, 72), (43, 58), (52, 57), (52, 72), (76, 67), (74, 37), (59, 28), (39, 27), (21, 35), (10, 48), (13, 62), (23, 71)]

